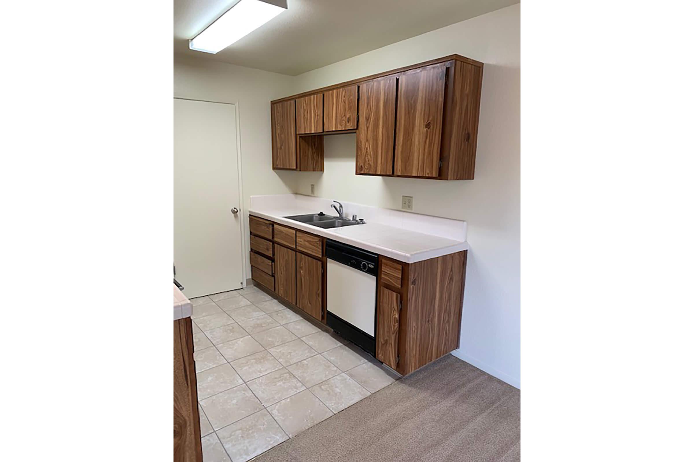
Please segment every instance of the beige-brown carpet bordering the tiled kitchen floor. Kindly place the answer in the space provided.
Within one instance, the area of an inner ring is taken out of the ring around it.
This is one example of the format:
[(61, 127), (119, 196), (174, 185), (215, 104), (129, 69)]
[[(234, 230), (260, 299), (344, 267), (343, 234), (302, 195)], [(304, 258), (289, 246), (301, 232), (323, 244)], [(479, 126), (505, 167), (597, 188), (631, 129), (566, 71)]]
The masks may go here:
[(520, 461), (521, 391), (451, 355), (254, 461)]

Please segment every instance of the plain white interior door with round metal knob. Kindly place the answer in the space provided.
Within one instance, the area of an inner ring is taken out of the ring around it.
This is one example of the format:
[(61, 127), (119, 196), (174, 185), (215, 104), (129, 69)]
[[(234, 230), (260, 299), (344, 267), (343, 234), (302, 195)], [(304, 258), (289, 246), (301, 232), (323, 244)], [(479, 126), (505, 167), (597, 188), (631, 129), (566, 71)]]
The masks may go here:
[(174, 98), (174, 263), (188, 298), (242, 287), (242, 216), (235, 105)]

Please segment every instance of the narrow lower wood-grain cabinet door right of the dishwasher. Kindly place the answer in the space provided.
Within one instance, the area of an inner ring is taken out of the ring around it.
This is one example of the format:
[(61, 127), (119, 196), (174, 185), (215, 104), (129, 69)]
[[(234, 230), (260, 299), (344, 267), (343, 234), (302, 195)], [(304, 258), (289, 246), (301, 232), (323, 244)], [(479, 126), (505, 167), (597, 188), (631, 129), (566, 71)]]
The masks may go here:
[(376, 312), (376, 359), (395, 369), (398, 365), (400, 294), (380, 287)]

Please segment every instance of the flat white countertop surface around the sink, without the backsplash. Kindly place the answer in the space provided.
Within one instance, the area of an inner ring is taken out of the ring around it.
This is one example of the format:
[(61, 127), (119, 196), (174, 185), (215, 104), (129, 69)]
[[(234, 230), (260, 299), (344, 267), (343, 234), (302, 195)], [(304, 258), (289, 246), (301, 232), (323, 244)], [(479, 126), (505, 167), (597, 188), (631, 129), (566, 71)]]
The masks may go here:
[[(287, 206), (278, 209), (251, 208), (249, 214), (256, 217), (265, 218), (280, 224), (286, 224), (292, 228), (301, 229), (307, 233), (323, 236), (332, 240), (343, 242), (399, 260), (405, 263), (416, 263), (430, 258), (443, 255), (455, 254), (455, 252), (467, 250), (468, 242), (464, 240), (453, 240), (442, 238), (432, 234), (418, 233), (408, 229), (388, 226), (386, 224), (369, 222), (366, 224), (355, 224), (341, 228), (323, 229), (285, 217), (291, 215), (304, 215), (316, 213), (315, 208), (303, 208), (298, 206)], [(327, 213), (327, 212), (326, 212)]]

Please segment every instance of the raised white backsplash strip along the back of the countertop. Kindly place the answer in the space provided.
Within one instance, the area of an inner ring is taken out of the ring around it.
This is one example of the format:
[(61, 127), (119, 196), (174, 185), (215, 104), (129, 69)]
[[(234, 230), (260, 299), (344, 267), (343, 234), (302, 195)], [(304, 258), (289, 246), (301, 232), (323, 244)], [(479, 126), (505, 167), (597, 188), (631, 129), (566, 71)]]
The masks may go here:
[[(455, 240), (467, 240), (468, 224), (462, 220), (452, 218), (432, 217), (420, 213), (391, 210), (363, 204), (355, 204), (340, 200), (347, 217), (357, 215), (364, 218), (367, 223), (380, 223), (396, 228), (416, 231), (418, 233), (439, 236)], [(335, 209), (330, 207), (332, 199), (314, 197), (301, 194), (276, 194), (251, 196), (251, 209), (253, 208), (277, 208), (291, 210), (305, 210), (306, 213), (323, 212), (327, 215), (335, 215)]]

